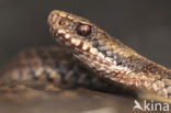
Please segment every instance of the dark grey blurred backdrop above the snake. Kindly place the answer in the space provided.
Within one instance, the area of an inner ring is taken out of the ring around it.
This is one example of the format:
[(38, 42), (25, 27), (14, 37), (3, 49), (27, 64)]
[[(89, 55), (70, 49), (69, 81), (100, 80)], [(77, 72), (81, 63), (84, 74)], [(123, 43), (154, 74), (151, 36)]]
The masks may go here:
[(0, 67), (21, 49), (55, 44), (46, 20), (58, 9), (91, 20), (141, 55), (171, 68), (170, 4), (169, 0), (0, 0)]

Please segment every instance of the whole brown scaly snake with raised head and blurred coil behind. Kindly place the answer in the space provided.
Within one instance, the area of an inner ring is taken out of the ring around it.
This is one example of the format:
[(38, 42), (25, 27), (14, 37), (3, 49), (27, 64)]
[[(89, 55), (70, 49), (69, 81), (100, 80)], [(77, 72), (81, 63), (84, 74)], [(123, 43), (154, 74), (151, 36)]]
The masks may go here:
[(47, 24), (57, 45), (21, 52), (5, 67), (1, 84), (39, 81), (100, 90), (122, 86), (133, 92), (171, 98), (170, 69), (139, 55), (89, 20), (54, 10)]

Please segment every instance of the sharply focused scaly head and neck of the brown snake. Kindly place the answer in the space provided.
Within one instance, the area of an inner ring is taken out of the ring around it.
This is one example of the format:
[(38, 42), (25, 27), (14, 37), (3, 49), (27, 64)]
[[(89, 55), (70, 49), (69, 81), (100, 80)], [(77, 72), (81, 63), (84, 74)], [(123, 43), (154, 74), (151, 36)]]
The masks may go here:
[[(55, 39), (105, 82), (170, 98), (169, 69), (140, 56), (90, 21), (55, 10), (48, 16), (48, 25)], [(88, 25), (91, 33), (79, 34), (80, 25)]]

